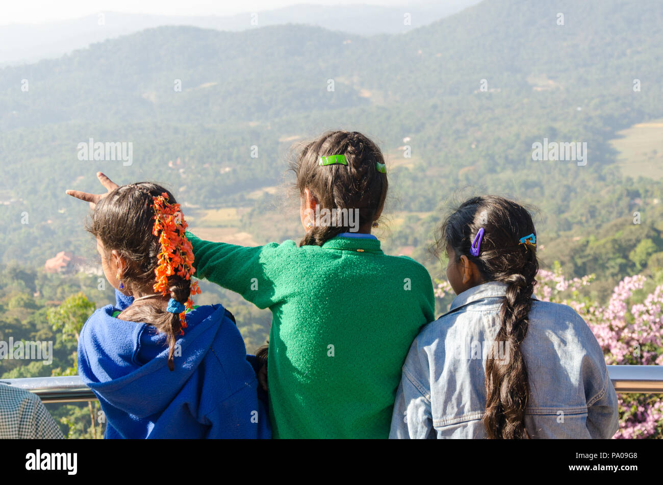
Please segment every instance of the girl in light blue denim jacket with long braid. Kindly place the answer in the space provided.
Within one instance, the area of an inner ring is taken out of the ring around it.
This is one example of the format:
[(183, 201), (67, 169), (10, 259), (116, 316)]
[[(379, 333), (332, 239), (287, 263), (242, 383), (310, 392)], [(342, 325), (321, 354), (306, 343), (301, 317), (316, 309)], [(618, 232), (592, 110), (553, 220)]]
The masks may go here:
[(457, 297), (416, 337), (391, 438), (609, 438), (617, 395), (572, 308), (539, 301), (536, 231), (524, 207), (473, 197), (442, 225)]

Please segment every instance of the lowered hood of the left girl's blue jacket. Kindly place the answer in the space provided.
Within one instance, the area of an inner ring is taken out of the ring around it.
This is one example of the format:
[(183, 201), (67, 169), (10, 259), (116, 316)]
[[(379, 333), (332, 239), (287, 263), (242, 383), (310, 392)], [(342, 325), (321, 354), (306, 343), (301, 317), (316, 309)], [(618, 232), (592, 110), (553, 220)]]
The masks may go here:
[[(80, 376), (113, 407), (137, 417), (162, 411), (214, 350), (227, 357), (225, 362), (235, 362), (237, 374), (245, 374), (239, 370), (247, 365), (243, 342), (223, 338), (225, 330), (237, 333), (237, 329), (224, 318), (222, 305), (204, 305), (187, 313), (188, 327), (176, 341), (180, 350), (176, 347), (173, 371), (168, 369), (165, 335), (145, 323), (117, 319), (113, 311), (112, 305), (97, 309), (84, 325), (78, 346)], [(228, 326), (233, 328), (223, 328)]]

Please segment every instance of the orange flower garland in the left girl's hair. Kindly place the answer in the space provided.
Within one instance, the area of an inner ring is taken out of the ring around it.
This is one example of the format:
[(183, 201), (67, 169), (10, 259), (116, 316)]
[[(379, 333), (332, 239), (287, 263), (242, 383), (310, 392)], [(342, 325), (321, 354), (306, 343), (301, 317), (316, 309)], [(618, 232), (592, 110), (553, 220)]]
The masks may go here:
[[(154, 227), (152, 234), (158, 236), (161, 250), (158, 254), (158, 266), (154, 270), (156, 275), (156, 283), (154, 284), (154, 291), (161, 293), (163, 296), (168, 296), (170, 291), (168, 288), (168, 276), (178, 275), (189, 280), (196, 272), (194, 268), (194, 252), (190, 241), (184, 235), (184, 231), (188, 225), (182, 217), (180, 212), (180, 204), (168, 203), (168, 194), (166, 192), (152, 197), (154, 203)], [(191, 294), (200, 294), (200, 287), (198, 282), (191, 283)], [(194, 301), (189, 298), (184, 303), (185, 311), (180, 313), (180, 322), (182, 329), (186, 329), (186, 309), (192, 309)], [(184, 335), (184, 330), (182, 330)]]

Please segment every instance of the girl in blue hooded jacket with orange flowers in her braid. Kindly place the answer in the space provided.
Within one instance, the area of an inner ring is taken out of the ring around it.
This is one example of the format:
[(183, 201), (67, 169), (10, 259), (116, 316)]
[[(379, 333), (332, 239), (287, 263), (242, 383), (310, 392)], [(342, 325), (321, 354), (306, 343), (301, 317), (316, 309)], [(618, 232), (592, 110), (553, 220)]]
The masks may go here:
[(88, 231), (117, 303), (84, 325), (78, 372), (99, 398), (106, 438), (269, 438), (258, 363), (232, 314), (190, 299), (200, 290), (185, 230), (156, 184), (120, 186), (97, 203)]

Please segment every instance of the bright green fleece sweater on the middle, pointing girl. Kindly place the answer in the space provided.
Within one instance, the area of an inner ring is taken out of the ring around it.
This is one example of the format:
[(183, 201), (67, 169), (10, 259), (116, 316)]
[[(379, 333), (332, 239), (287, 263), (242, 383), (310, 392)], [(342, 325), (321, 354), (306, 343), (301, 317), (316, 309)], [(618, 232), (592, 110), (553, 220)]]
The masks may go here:
[(426, 268), (376, 239), (245, 247), (193, 244), (196, 277), (272, 311), (275, 438), (387, 438), (401, 366), (434, 320)]

